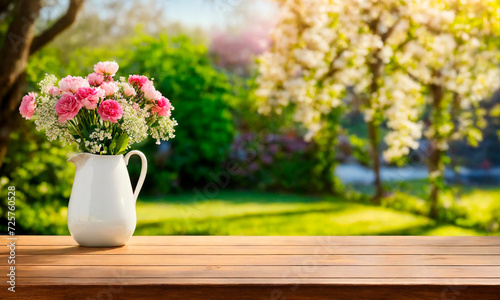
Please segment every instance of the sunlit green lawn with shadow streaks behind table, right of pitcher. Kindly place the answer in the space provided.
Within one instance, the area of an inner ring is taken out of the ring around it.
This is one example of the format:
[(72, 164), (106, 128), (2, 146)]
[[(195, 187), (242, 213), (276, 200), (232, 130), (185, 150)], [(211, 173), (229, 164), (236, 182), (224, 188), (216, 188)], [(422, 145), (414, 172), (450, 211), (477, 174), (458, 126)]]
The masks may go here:
[[(490, 195), (489, 204), (477, 202)], [(500, 206), (500, 192), (471, 192), (460, 204), (484, 214)], [(473, 216), (473, 214), (471, 214)], [(223, 191), (142, 198), (136, 235), (483, 235), (485, 232), (364, 203), (288, 194)]]

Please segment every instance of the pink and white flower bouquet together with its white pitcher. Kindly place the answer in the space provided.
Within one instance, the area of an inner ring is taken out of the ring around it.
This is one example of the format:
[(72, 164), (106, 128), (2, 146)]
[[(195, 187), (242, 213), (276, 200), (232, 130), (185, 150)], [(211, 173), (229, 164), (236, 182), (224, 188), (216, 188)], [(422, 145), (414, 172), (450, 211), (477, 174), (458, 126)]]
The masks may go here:
[[(174, 137), (170, 101), (153, 81), (130, 75), (113, 77), (115, 62), (100, 62), (87, 78), (46, 75), (40, 94), (24, 96), (19, 111), (35, 119), (49, 141), (77, 143), (82, 153), (69, 159), (76, 166), (68, 204), (68, 228), (82, 246), (124, 245), (136, 226), (135, 202), (147, 172), (147, 159), (140, 151), (125, 152), (149, 135), (162, 140)], [(127, 164), (131, 155), (142, 161), (141, 174), (132, 190)]]

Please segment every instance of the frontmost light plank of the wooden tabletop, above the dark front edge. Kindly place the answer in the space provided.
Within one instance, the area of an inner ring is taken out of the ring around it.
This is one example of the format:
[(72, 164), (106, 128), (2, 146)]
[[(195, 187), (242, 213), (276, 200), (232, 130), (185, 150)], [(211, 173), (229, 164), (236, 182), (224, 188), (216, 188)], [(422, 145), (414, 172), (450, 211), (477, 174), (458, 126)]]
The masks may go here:
[[(210, 262), (208, 262), (210, 263)], [(500, 277), (499, 266), (19, 266), (18, 277)]]

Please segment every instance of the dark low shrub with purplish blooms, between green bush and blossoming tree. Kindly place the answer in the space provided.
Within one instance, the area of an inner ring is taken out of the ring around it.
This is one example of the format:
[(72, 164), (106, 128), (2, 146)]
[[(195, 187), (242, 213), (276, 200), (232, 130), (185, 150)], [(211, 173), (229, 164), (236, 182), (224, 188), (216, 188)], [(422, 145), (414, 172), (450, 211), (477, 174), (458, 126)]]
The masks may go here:
[(300, 193), (330, 191), (329, 178), (315, 174), (317, 150), (314, 143), (292, 134), (244, 133), (235, 139), (229, 155), (238, 166), (232, 184)]

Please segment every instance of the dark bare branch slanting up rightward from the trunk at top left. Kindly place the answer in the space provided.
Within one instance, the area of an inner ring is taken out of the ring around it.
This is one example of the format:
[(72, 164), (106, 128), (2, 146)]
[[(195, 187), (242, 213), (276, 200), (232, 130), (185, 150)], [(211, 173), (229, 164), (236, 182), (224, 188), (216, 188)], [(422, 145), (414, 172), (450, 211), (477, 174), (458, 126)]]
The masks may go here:
[(85, 0), (70, 0), (68, 10), (51, 27), (33, 39), (30, 55), (40, 50), (43, 46), (51, 42), (57, 35), (75, 22), (76, 16), (83, 6)]

